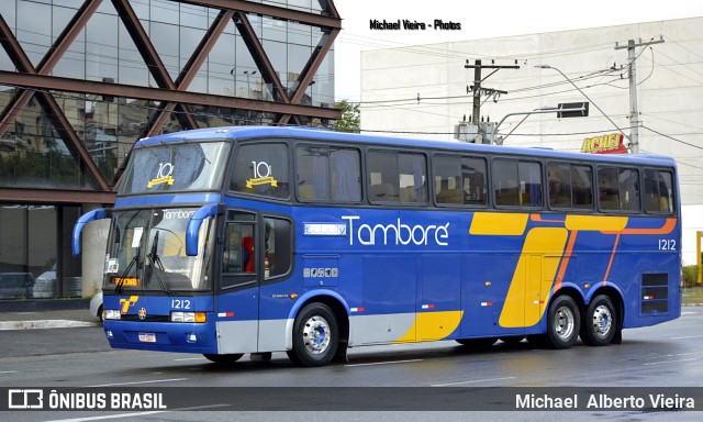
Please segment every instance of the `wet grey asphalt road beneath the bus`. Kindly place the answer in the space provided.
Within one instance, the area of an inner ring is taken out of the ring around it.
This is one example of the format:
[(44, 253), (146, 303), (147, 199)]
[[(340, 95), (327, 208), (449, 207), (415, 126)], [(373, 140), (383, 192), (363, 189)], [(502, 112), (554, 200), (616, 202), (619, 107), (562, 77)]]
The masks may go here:
[[(498, 343), (488, 351), (467, 349), (455, 342), (375, 346), (353, 348), (346, 364), (322, 368), (298, 368), (282, 353), (274, 354), (270, 362), (253, 362), (245, 356), (232, 366), (222, 367), (198, 355), (113, 351), (109, 348), (102, 330), (98, 327), (3, 331), (0, 332), (0, 387), (12, 388), (688, 388), (703, 386), (703, 308), (684, 308), (682, 318), (677, 321), (626, 330), (623, 332), (623, 344), (607, 347), (588, 347), (579, 343), (568, 351), (533, 349), (526, 342), (516, 346)], [(281, 406), (281, 410), (284, 410), (284, 403)], [(703, 403), (698, 403), (696, 407), (701, 409)], [(585, 421), (594, 417), (640, 421), (671, 420), (674, 414), (657, 411), (238, 412), (227, 407), (220, 411), (198, 412), (0, 412), (0, 420), (12, 421), (92, 421), (105, 420), (105, 417), (120, 421), (308, 421), (320, 418), (358, 421), (438, 418), (447, 421), (531, 421), (545, 420), (547, 417), (551, 420), (568, 421)], [(676, 419), (703, 420), (703, 413), (676, 412)]]

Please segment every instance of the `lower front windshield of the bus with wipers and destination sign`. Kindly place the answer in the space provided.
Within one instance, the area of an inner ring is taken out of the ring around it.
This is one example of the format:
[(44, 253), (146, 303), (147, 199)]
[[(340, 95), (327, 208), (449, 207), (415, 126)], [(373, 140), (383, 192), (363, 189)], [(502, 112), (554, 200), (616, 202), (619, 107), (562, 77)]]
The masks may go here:
[(209, 290), (211, 220), (200, 226), (198, 256), (186, 255), (186, 229), (197, 208), (115, 211), (105, 256), (105, 287), (115, 291)]

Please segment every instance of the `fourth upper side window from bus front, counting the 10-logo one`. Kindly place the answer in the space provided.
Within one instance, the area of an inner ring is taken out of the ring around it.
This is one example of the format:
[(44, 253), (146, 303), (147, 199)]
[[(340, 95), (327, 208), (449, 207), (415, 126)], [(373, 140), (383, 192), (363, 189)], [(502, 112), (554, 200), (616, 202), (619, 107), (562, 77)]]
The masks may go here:
[(439, 204), (486, 206), (486, 160), (483, 158), (436, 156), (435, 193)]

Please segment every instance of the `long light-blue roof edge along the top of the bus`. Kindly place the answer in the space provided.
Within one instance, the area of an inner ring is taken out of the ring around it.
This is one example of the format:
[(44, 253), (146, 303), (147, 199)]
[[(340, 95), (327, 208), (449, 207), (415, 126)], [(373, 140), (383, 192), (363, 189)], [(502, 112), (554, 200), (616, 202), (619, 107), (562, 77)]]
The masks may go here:
[(569, 160), (589, 160), (601, 163), (632, 163), (639, 165), (674, 166), (673, 158), (663, 155), (649, 154), (587, 154), (576, 152), (555, 151), (543, 147), (516, 147), (469, 144), (450, 141), (429, 141), (386, 135), (365, 135), (356, 133), (331, 132), (306, 126), (223, 126), (208, 127), (192, 131), (175, 132), (165, 135), (140, 140), (135, 147), (146, 147), (163, 143), (177, 143), (207, 140), (250, 140), (250, 138), (304, 138), (327, 142), (354, 142), (367, 145), (392, 145), (404, 148), (433, 148), (447, 151), (466, 151), (473, 153), (492, 153), (501, 155), (521, 155)]

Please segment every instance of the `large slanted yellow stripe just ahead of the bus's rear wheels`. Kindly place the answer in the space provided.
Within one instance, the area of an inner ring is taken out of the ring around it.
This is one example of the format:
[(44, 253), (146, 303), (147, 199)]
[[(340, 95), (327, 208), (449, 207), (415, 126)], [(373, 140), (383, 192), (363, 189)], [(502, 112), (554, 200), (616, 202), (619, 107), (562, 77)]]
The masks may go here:
[(501, 326), (523, 327), (539, 322), (568, 234), (561, 227), (536, 227), (527, 233), (499, 319)]

